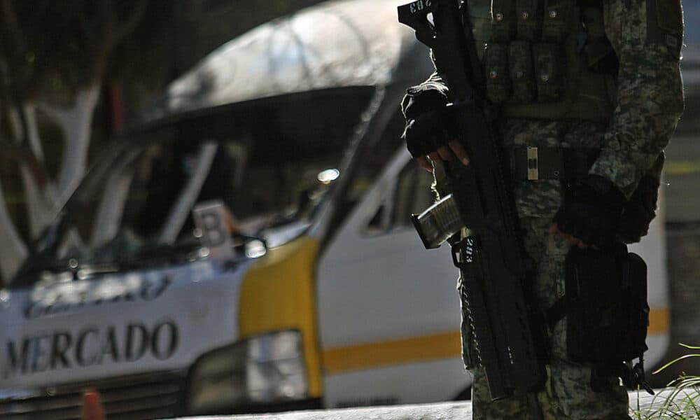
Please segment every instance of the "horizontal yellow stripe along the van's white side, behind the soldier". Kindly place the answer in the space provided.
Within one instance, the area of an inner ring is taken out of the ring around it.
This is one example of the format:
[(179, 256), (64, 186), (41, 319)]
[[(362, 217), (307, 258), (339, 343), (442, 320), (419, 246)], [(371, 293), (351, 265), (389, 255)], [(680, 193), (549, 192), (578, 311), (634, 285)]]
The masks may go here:
[[(667, 308), (652, 309), (649, 314), (647, 334), (666, 334), (669, 324)], [(459, 332), (327, 349), (323, 351), (323, 367), (325, 373), (337, 374), (453, 357), (461, 357)]]

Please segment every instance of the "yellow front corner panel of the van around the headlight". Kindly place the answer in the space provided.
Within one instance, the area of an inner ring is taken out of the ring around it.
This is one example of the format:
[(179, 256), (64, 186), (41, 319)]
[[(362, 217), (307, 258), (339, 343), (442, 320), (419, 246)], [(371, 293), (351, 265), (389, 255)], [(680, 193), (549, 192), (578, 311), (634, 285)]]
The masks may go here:
[(321, 351), (318, 349), (314, 270), (318, 241), (302, 237), (256, 261), (241, 286), (241, 338), (276, 330), (302, 332), (309, 396), (321, 397)]

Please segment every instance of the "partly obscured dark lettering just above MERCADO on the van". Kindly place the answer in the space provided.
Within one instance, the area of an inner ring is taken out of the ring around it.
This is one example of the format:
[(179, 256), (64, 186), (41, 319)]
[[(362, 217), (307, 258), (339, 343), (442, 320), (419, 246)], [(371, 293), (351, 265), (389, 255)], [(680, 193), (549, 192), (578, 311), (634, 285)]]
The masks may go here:
[(120, 279), (103, 280), (95, 288), (78, 288), (88, 286), (68, 284), (62, 288), (48, 290), (45, 295), (30, 302), (25, 309), (25, 318), (34, 319), (41, 316), (59, 314), (85, 307), (105, 303), (151, 301), (158, 299), (172, 284), (169, 276), (126, 276)]

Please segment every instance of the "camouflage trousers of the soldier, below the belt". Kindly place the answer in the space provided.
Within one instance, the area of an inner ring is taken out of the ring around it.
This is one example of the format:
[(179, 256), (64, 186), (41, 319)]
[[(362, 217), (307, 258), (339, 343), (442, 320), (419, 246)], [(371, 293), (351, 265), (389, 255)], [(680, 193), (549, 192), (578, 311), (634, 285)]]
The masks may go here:
[[(537, 269), (533, 282), (534, 297), (540, 309), (549, 308), (564, 294), (564, 260), (568, 243), (549, 235), (549, 218), (522, 218), (526, 249)], [(465, 314), (463, 314), (464, 316)], [(468, 323), (463, 323), (463, 356), (474, 376), (472, 387), (473, 419), (528, 419), (524, 398), (508, 398), (491, 402), (484, 372), (475, 363), (475, 344)], [(566, 319), (559, 321), (549, 337), (552, 352), (547, 366), (547, 384), (538, 393), (542, 412), (547, 420), (628, 419), (627, 393), (624, 387), (610, 391), (591, 390), (589, 367), (566, 360)]]

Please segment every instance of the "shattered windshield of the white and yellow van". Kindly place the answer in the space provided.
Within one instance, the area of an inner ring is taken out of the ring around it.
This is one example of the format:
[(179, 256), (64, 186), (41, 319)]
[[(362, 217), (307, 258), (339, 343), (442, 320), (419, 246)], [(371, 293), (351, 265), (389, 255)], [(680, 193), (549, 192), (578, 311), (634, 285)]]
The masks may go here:
[(71, 210), (55, 255), (32, 274), (191, 260), (202, 247), (191, 211), (213, 200), (239, 242), (289, 225), (301, 233), (344, 175), (339, 164), (371, 96), (358, 88), (265, 99), (132, 142), (99, 183), (88, 183), (91, 192), (78, 189), (87, 198)]

